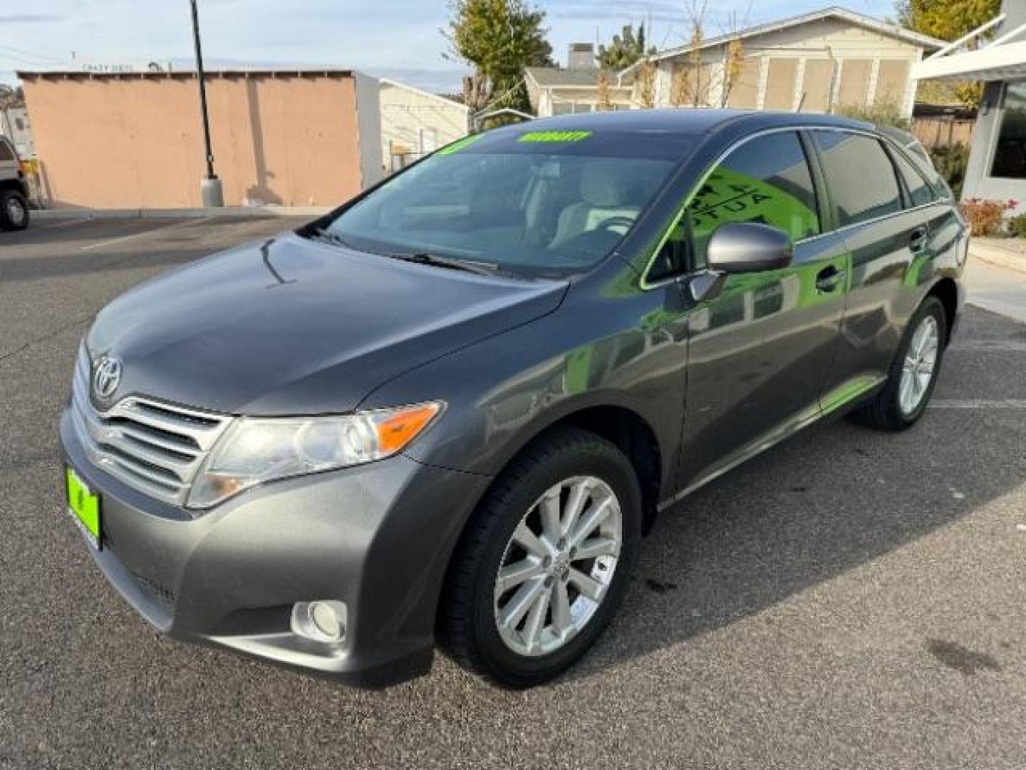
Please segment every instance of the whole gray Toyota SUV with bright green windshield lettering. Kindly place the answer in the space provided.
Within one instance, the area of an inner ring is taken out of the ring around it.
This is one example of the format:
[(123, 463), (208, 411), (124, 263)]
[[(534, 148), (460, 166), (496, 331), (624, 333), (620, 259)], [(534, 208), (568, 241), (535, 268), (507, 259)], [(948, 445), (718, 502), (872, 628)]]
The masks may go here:
[(172, 637), (363, 686), (436, 641), (549, 680), (660, 511), (822, 418), (922, 415), (968, 236), (920, 151), (703, 110), (468, 137), (100, 312), (69, 510)]

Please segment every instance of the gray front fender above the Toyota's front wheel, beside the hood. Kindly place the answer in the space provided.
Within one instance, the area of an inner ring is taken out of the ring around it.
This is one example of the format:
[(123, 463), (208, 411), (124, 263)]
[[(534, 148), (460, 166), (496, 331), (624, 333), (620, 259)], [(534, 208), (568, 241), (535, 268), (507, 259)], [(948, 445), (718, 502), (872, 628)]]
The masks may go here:
[(683, 420), (682, 324), (654, 324), (659, 292), (600, 305), (571, 302), (385, 384), (360, 409), (440, 398), (448, 408), (405, 452), (413, 459), (484, 475), (498, 473), (531, 438), (591, 407), (638, 415), (660, 445), (672, 484)]

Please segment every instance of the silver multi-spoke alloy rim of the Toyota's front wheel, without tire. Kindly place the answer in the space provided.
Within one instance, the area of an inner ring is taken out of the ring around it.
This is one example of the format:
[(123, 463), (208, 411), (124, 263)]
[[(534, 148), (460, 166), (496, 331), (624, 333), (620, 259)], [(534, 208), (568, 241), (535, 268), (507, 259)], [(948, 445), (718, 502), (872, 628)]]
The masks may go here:
[(620, 560), (623, 514), (595, 476), (550, 487), (527, 510), (495, 584), (499, 636), (518, 655), (559, 650), (601, 606)]

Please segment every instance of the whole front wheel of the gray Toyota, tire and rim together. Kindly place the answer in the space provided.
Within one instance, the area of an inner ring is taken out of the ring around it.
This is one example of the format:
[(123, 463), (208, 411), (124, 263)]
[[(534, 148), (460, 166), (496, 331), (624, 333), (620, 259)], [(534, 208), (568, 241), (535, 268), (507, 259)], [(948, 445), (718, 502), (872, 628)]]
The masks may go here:
[(577, 428), (543, 436), (497, 479), (453, 556), (439, 639), (505, 687), (551, 680), (611, 619), (641, 531), (630, 461)]

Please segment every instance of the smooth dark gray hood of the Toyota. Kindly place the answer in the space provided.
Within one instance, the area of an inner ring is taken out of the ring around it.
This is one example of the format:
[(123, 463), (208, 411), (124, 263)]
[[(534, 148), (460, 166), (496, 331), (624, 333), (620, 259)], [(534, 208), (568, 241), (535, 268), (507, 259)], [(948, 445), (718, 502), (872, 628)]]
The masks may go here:
[(137, 286), (101, 311), (86, 344), (93, 357), (122, 360), (116, 398), (231, 414), (342, 413), (410, 369), (553, 311), (566, 285), (287, 233)]

